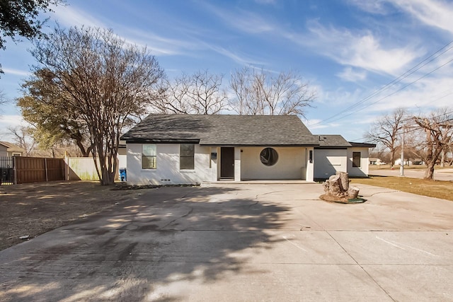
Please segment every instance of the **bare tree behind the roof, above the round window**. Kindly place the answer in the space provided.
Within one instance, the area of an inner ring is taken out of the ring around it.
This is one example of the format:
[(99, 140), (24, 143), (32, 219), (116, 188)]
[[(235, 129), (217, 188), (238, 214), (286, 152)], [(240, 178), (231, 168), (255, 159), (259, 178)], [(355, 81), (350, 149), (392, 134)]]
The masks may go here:
[(273, 76), (261, 69), (243, 68), (231, 74), (235, 98), (231, 109), (239, 115), (301, 115), (316, 98), (316, 92), (294, 71)]

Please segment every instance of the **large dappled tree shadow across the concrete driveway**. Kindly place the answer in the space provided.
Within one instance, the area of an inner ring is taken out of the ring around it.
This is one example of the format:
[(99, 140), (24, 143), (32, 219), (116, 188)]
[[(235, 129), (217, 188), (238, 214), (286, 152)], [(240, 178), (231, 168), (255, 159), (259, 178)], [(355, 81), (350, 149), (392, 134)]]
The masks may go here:
[[(238, 190), (241, 198), (236, 199)], [(0, 252), (1, 301), (172, 301), (247, 272), (289, 209), (238, 187), (162, 187)], [(240, 253), (241, 252), (241, 253)], [(159, 286), (166, 286), (166, 293)], [(184, 287), (187, 286), (187, 289)], [(234, 289), (231, 289), (234, 291)]]

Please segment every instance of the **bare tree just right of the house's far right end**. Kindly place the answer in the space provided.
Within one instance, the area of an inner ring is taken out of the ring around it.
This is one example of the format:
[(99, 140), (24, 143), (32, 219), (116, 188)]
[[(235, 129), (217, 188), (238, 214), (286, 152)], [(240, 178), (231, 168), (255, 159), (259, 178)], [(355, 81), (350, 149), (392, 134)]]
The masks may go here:
[(403, 108), (396, 109), (390, 115), (380, 117), (379, 120), (372, 124), (369, 132), (365, 134), (368, 141), (383, 144), (389, 149), (389, 164), (391, 167), (395, 164), (395, 153), (396, 149), (400, 146), (398, 141), (401, 135), (401, 129), (403, 129), (406, 122), (405, 117), (406, 110)]

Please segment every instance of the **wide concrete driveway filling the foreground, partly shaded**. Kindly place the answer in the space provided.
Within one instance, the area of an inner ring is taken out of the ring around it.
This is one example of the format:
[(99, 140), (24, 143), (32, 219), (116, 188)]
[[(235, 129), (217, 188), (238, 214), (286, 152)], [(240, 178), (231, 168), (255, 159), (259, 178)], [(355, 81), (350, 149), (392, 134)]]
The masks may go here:
[(0, 252), (0, 301), (453, 301), (453, 202), (360, 185), (143, 190)]

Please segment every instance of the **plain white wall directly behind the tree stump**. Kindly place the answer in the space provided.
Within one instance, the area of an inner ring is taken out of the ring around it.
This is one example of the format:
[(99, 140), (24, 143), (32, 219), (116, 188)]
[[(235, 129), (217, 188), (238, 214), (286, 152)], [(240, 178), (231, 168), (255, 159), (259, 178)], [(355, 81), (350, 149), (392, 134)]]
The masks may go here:
[(337, 172), (347, 171), (348, 171), (347, 149), (314, 150), (314, 178), (327, 179), (331, 175), (335, 175)]

